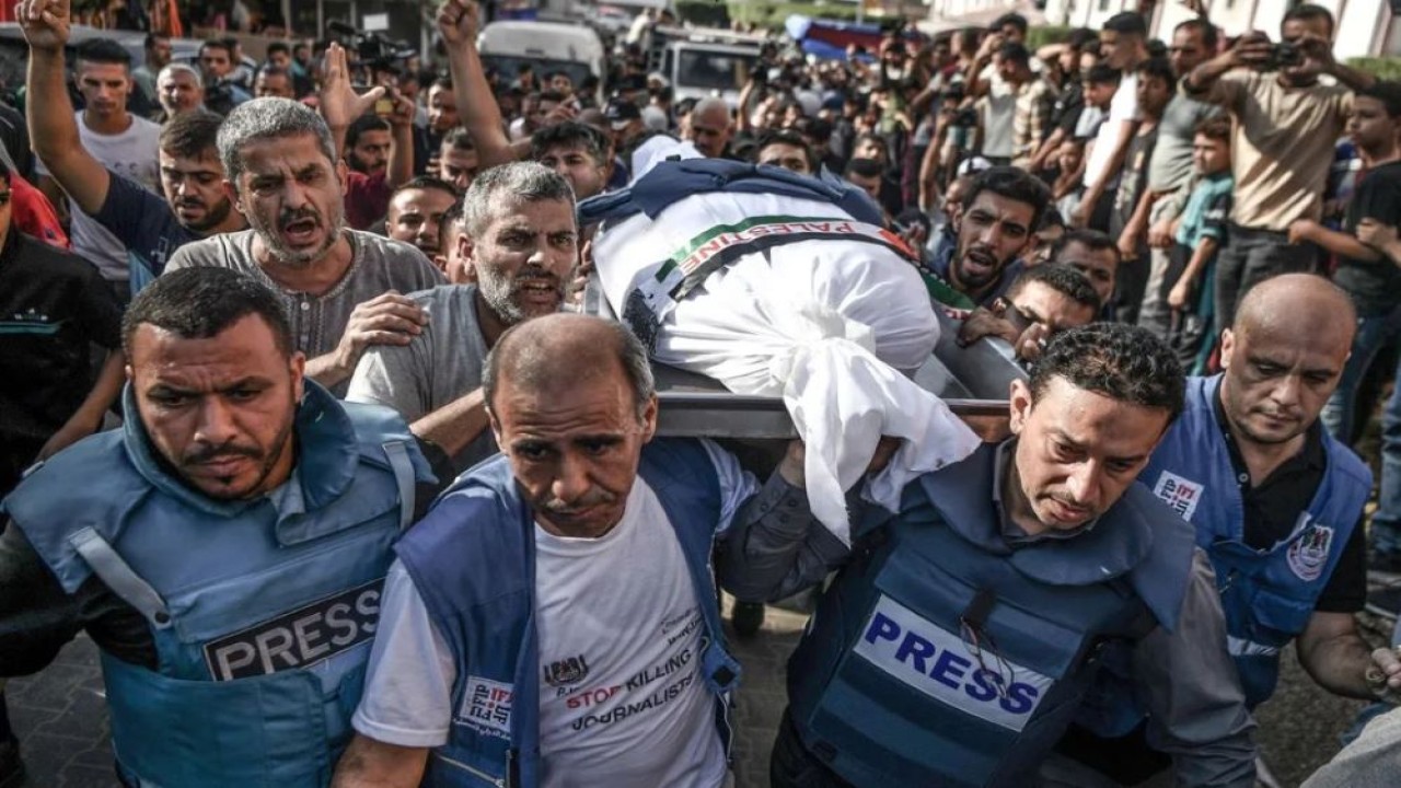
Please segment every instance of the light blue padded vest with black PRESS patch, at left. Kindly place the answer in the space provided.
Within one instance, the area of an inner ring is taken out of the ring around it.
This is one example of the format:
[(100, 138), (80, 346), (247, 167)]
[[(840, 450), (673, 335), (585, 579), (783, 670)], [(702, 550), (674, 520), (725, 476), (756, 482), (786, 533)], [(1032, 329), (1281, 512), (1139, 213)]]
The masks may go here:
[(326, 785), (350, 739), (391, 545), (433, 474), (398, 414), (305, 387), (300, 484), (277, 505), (168, 475), (130, 388), (123, 430), (59, 453), (4, 501), (66, 592), (95, 575), (151, 627), (156, 670), (102, 655), (134, 785)]

